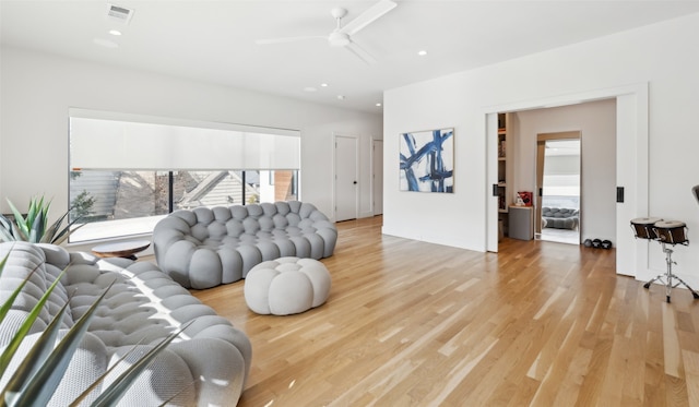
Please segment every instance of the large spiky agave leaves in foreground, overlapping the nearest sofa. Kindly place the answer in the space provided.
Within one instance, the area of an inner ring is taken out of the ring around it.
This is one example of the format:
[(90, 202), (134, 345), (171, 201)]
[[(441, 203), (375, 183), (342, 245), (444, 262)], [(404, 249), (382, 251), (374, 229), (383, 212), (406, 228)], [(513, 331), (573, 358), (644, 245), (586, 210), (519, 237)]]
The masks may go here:
[[(11, 252), (11, 251), (10, 251)], [(10, 256), (10, 252), (0, 261), (0, 275), (4, 270), (4, 265)], [(32, 272), (34, 273), (34, 272)], [(24, 356), (19, 368), (15, 371), (10, 371), (10, 361), (15, 356), (20, 344), (26, 337), (34, 324), (34, 321), (38, 316), (42, 308), (48, 300), (51, 291), (60, 280), (61, 276), (66, 273), (66, 270), (56, 279), (56, 282), (44, 294), (42, 299), (36, 303), (33, 310), (27, 315), (26, 320), (20, 326), (15, 335), (0, 355), (0, 378), (4, 378), (5, 374), (10, 376), (4, 388), (0, 390), (0, 406), (46, 406), (51, 396), (56, 392), (68, 366), (70, 363), (73, 354), (78, 349), (80, 342), (90, 326), (90, 322), (97, 306), (103, 300), (109, 288), (107, 287), (99, 298), (95, 300), (90, 310), (68, 331), (68, 333), (57, 342), (60, 321), (63, 312), (68, 308), (68, 302), (57, 313), (48, 327), (42, 333), (38, 340), (36, 340), (29, 352)], [(22, 291), (24, 285), (31, 277), (27, 276), (22, 284), (13, 291), (8, 300), (0, 306), (0, 323), (4, 320), (5, 315), (12, 308), (12, 304), (16, 297)], [(114, 283), (112, 283), (114, 284)], [(70, 300), (69, 300), (70, 301)], [(187, 326), (181, 327), (179, 331), (174, 332), (168, 337), (163, 339), (157, 346), (146, 352), (138, 362), (129, 367), (109, 387), (102, 391), (102, 394), (95, 399), (91, 406), (114, 406), (119, 403), (119, 399), (123, 396), (126, 391), (131, 386), (135, 379), (145, 370), (149, 363), (155, 358), (155, 356), (165, 348), (177, 335), (179, 335)], [(134, 346), (135, 348), (135, 346)], [(117, 367), (125, 358), (123, 356), (119, 362), (115, 363), (109, 370), (107, 370), (99, 379), (92, 383), (72, 404), (71, 406), (78, 406), (84, 400), (84, 398), (107, 376), (107, 374)], [(175, 395), (177, 396), (177, 395)], [(173, 398), (175, 397), (173, 396)], [(171, 399), (170, 399), (171, 400)], [(165, 402), (164, 404), (168, 403)]]

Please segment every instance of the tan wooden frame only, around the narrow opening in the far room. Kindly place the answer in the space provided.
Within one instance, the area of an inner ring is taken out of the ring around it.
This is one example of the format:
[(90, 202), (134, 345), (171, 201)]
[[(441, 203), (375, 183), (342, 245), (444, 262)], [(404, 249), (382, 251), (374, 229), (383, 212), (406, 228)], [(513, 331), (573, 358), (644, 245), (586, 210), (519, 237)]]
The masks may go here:
[(582, 238), (582, 132), (580, 130), (561, 131), (555, 133), (536, 134), (536, 188), (534, 191), (536, 205), (534, 206), (534, 236), (542, 234), (542, 195), (540, 191), (544, 188), (544, 163), (546, 157), (546, 142), (556, 140), (578, 140), (580, 143), (580, 161), (578, 168), (578, 181), (580, 183), (580, 208), (578, 210), (578, 244)]

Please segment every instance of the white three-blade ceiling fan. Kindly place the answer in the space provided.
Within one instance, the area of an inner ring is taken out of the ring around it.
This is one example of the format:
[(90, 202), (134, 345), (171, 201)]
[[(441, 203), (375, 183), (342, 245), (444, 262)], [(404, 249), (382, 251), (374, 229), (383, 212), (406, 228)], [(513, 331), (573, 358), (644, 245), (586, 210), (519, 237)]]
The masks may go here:
[(298, 40), (306, 39), (316, 39), (316, 38), (324, 38), (328, 40), (331, 47), (344, 48), (359, 59), (362, 59), (366, 63), (374, 63), (376, 59), (369, 55), (364, 48), (362, 48), (357, 43), (352, 40), (352, 36), (359, 32), (362, 28), (371, 24), (383, 14), (393, 10), (398, 5), (395, 2), (390, 0), (381, 0), (378, 3), (374, 4), (369, 9), (367, 9), (364, 13), (359, 14), (356, 19), (351, 21), (350, 23), (342, 25), (342, 19), (347, 15), (347, 10), (342, 8), (335, 8), (330, 11), (330, 14), (335, 19), (336, 26), (335, 29), (330, 33), (330, 35), (324, 36), (304, 36), (304, 37), (286, 37), (286, 38), (269, 38), (269, 39), (258, 39), (256, 43), (258, 45), (268, 45), (268, 44), (281, 44), (281, 43), (293, 43)]

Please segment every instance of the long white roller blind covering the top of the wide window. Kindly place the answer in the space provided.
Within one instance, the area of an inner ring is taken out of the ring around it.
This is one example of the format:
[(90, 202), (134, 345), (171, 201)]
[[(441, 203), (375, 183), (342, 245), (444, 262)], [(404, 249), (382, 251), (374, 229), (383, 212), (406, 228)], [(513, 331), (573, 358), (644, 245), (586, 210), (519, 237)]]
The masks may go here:
[(299, 169), (300, 132), (70, 109), (73, 169)]

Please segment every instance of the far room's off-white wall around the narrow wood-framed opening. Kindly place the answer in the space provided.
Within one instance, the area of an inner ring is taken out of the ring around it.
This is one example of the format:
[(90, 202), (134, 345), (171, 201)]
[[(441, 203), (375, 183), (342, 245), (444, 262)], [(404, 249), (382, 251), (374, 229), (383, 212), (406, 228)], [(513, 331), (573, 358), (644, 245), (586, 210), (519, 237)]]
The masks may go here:
[(616, 100), (525, 110), (519, 119), (514, 191), (534, 191), (536, 135), (580, 131), (581, 232), (584, 239), (616, 240)]

